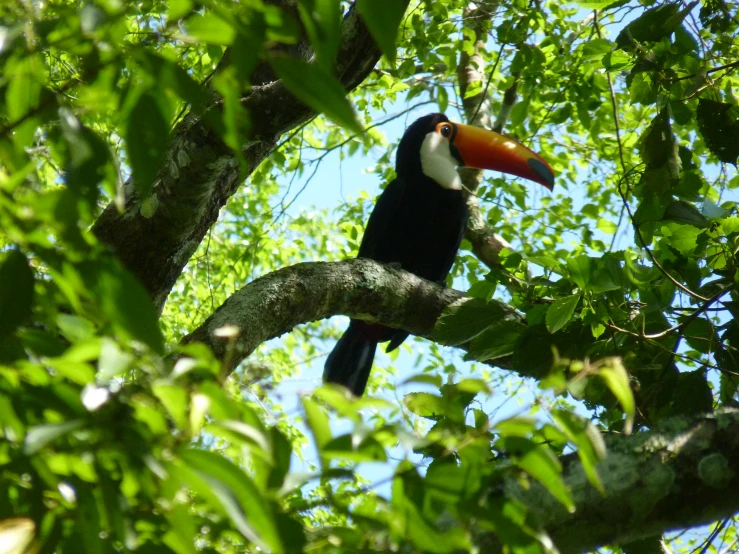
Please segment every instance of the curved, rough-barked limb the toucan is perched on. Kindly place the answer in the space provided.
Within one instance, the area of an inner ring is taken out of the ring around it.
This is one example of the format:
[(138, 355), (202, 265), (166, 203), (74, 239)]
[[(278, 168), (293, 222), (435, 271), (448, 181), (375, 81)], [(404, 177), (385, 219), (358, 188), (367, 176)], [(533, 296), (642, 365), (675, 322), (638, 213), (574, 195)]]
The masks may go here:
[[(205, 343), (230, 372), (263, 342), (333, 315), (376, 321), (428, 337), (444, 308), (464, 298), (459, 291), (373, 260), (306, 262), (252, 281), (183, 342)], [(507, 304), (498, 304), (509, 314), (507, 318), (523, 319)], [(233, 343), (216, 333), (229, 325), (239, 329)], [(494, 365), (509, 368), (508, 363), (502, 358)]]

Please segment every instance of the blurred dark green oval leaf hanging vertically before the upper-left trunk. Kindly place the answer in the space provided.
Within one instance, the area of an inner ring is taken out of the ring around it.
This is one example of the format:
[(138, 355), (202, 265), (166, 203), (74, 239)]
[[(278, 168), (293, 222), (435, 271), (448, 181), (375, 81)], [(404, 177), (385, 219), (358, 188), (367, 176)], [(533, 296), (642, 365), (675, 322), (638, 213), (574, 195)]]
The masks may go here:
[(157, 100), (141, 94), (126, 116), (126, 147), (134, 186), (143, 198), (149, 196), (154, 179), (167, 152), (169, 122)]

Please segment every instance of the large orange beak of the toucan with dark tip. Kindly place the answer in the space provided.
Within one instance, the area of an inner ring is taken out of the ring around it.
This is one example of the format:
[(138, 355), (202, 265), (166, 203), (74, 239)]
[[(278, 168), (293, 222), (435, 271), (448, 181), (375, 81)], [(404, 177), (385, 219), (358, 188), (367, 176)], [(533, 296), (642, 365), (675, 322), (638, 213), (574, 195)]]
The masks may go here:
[(520, 142), (472, 125), (456, 123), (455, 127), (453, 144), (465, 166), (510, 173), (549, 190), (554, 187), (554, 172), (549, 164)]

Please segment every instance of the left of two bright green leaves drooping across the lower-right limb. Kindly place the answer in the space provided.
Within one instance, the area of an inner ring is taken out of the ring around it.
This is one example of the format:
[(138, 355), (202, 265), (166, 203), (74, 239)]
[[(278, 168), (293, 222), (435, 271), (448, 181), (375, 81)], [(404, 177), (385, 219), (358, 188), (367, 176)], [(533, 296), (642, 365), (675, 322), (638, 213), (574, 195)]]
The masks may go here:
[(499, 439), (497, 445), (515, 460), (518, 467), (544, 485), (568, 512), (575, 511), (572, 495), (562, 480), (562, 464), (548, 446), (514, 436)]

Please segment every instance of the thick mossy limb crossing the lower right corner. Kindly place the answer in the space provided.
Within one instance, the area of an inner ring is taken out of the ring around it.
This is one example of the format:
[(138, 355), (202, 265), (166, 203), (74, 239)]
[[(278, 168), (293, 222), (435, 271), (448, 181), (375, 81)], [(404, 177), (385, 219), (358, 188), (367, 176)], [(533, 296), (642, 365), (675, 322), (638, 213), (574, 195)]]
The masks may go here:
[[(538, 483), (527, 488), (511, 479), (499, 493), (520, 500), (562, 554), (624, 544), (739, 512), (739, 410), (672, 419), (655, 431), (606, 442), (607, 455), (598, 464), (605, 496), (590, 485), (576, 457), (563, 458), (574, 513)], [(481, 540), (484, 551), (501, 551), (494, 535)]]

